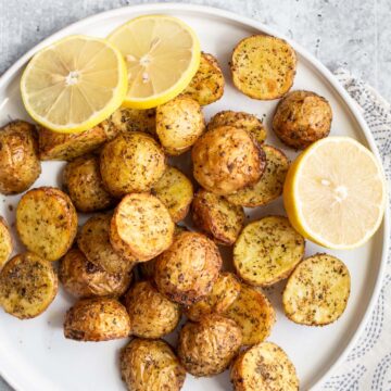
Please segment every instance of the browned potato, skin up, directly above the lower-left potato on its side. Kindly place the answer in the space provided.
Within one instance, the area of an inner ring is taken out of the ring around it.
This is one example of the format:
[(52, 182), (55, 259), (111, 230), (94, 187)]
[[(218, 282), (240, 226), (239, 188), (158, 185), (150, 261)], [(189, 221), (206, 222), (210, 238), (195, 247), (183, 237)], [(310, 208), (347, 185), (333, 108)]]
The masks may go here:
[(65, 254), (59, 269), (60, 281), (76, 298), (121, 297), (130, 285), (131, 276), (130, 272), (104, 272), (77, 248)]

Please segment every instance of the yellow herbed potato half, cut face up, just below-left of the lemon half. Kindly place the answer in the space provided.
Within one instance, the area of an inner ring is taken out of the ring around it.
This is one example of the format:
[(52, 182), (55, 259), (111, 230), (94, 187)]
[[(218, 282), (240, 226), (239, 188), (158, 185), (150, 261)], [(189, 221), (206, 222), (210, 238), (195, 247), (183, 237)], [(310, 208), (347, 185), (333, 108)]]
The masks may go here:
[(304, 238), (287, 217), (263, 217), (240, 234), (234, 247), (234, 266), (247, 283), (267, 287), (292, 273), (303, 260), (304, 248)]

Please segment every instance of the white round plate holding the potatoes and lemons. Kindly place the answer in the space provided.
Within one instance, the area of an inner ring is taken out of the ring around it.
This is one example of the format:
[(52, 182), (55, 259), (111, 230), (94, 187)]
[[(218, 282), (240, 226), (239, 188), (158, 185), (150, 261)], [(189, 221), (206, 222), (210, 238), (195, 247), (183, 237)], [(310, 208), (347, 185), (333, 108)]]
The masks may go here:
[[(40, 48), (71, 34), (105, 37), (119, 24), (146, 13), (168, 13), (182, 18), (198, 33), (202, 49), (215, 54), (223, 65), (227, 87), (224, 98), (205, 108), (206, 117), (224, 109), (242, 110), (260, 117), (266, 115), (267, 128), (277, 101), (261, 102), (247, 98), (231, 86), (228, 61), (234, 46), (243, 37), (260, 31), (278, 35), (258, 22), (217, 9), (185, 4), (146, 4), (129, 7), (88, 17), (54, 34), (17, 61), (0, 80), (0, 125), (10, 118), (28, 118), (21, 101), (18, 81), (28, 59)], [(358, 139), (377, 155), (374, 139), (355, 103), (332, 75), (305, 50), (291, 42), (299, 54), (293, 89), (308, 89), (324, 96), (333, 111), (331, 135)], [(291, 151), (268, 133), (268, 143)], [(63, 163), (46, 162), (34, 185), (59, 186)], [(14, 223), (14, 206), (20, 197), (0, 199), (0, 214)], [(283, 213), (280, 200), (251, 212), (251, 218)], [(386, 265), (388, 218), (369, 243), (354, 251), (330, 251), (341, 257), (352, 275), (352, 292), (340, 320), (327, 327), (304, 327), (289, 321), (281, 312), (281, 285), (267, 294), (277, 310), (277, 323), (269, 340), (281, 345), (293, 361), (303, 390), (320, 387), (331, 368), (346, 356), (356, 341), (379, 293)], [(307, 242), (306, 254), (325, 251)], [(118, 374), (118, 350), (126, 340), (105, 343), (80, 343), (65, 340), (62, 323), (72, 299), (61, 291), (49, 310), (36, 319), (17, 320), (0, 313), (0, 373), (18, 391), (124, 390)], [(173, 337), (175, 339), (175, 337)], [(184, 390), (229, 390), (228, 371), (215, 378), (187, 377)]]

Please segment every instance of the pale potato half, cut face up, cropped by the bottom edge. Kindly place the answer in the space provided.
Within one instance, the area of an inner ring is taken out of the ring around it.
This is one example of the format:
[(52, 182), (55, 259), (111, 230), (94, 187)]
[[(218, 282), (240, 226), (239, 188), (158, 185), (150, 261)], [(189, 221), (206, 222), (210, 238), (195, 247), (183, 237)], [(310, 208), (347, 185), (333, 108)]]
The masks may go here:
[(299, 379), (287, 353), (273, 342), (263, 342), (241, 353), (231, 368), (235, 391), (294, 391)]

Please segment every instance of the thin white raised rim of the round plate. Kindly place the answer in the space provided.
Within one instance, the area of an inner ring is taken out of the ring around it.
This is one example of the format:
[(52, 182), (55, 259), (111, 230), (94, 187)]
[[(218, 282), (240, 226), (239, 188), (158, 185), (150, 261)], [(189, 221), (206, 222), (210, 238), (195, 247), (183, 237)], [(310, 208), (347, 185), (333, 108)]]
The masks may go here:
[[(27, 61), (41, 48), (50, 45), (51, 42), (55, 41), (60, 37), (72, 34), (71, 31), (74, 28), (83, 27), (85, 25), (89, 25), (92, 23), (97, 23), (99, 21), (104, 21), (109, 17), (115, 17), (119, 15), (125, 10), (131, 10), (134, 12), (146, 12), (146, 13), (152, 13), (152, 12), (171, 12), (171, 11), (182, 11), (187, 13), (203, 13), (207, 15), (217, 16), (220, 18), (226, 18), (231, 22), (241, 23), (243, 25), (250, 26), (252, 28), (255, 28), (262, 33), (266, 33), (279, 38), (285, 39), (288, 41), (293, 49), (302, 56), (305, 61), (307, 61), (331, 85), (333, 90), (338, 92), (339, 98), (342, 99), (343, 103), (348, 106), (351, 114), (353, 115), (354, 119), (357, 122), (366, 142), (369, 146), (370, 151), (376, 155), (378, 162), (380, 162), (380, 165), (383, 169), (382, 161), (378, 151), (378, 148), (375, 142), (375, 138), (365, 122), (362, 112), (360, 111), (360, 108), (357, 103), (353, 100), (353, 98), (348, 93), (348, 91), (342, 87), (342, 85), (339, 84), (335, 75), (319, 61), (310, 53), (306, 49), (304, 49), (301, 45), (297, 43), (294, 40), (288, 38), (283, 34), (280, 34), (278, 30), (276, 30), (273, 27), (269, 27), (268, 25), (265, 25), (262, 22), (255, 21), (249, 16), (243, 16), (236, 14), (232, 11), (226, 11), (219, 8), (210, 7), (210, 5), (199, 5), (199, 4), (191, 4), (191, 3), (177, 3), (177, 2), (165, 2), (165, 3), (144, 3), (144, 4), (129, 4), (126, 7), (121, 7), (112, 10), (106, 10), (103, 12), (96, 13), (93, 15), (84, 17), (81, 20), (78, 20), (70, 25), (67, 25), (64, 28), (61, 28), (60, 30), (53, 33), (49, 37), (45, 38), (42, 41), (40, 41), (38, 45), (29, 49), (25, 54), (23, 54), (18, 60), (16, 60), (1, 76), (0, 76), (0, 90), (4, 88), (4, 86), (8, 84), (8, 81), (14, 77), (14, 75), (20, 72), (23, 66), (27, 63)], [(0, 110), (2, 104), (0, 103)], [(388, 260), (388, 250), (390, 247), (390, 211), (389, 211), (389, 200), (387, 197), (386, 200), (386, 210), (384, 210), (384, 216), (382, 224), (380, 225), (379, 229), (382, 229), (383, 237), (382, 237), (382, 247), (381, 247), (381, 261), (378, 269), (378, 274), (376, 277), (376, 282), (373, 289), (373, 292), (370, 294), (370, 299), (368, 302), (368, 305), (365, 310), (365, 313), (361, 319), (360, 325), (356, 327), (352, 338), (350, 341), (345, 344), (342, 353), (338, 356), (338, 358), (328, 367), (325, 368), (323, 374), (320, 376), (317, 376), (315, 378), (314, 384), (312, 386), (313, 389), (316, 389), (320, 387), (327, 378), (329, 378), (333, 370), (346, 358), (348, 354), (351, 352), (352, 348), (356, 344), (358, 338), (364, 331), (365, 326), (368, 323), (368, 318), (370, 317), (374, 307), (377, 303), (377, 300), (380, 294), (381, 290), (381, 282), (383, 280), (384, 274), (386, 274), (386, 265)], [(1, 357), (0, 357), (1, 358)], [(7, 374), (2, 366), (0, 366), (0, 376), (8, 382), (9, 386), (11, 386), (16, 391), (24, 391), (22, 388), (17, 386), (18, 381), (16, 380), (16, 376)]]

